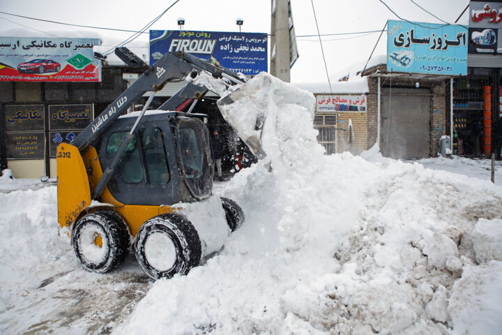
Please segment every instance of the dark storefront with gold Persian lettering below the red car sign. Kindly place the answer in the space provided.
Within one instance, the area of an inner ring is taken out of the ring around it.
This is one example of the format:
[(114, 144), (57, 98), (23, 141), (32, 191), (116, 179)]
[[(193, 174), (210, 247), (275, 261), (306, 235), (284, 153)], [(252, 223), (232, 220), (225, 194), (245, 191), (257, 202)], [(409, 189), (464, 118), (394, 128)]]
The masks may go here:
[(123, 67), (101, 82), (0, 82), (1, 168), (14, 177), (55, 177), (56, 147), (70, 142), (126, 89)]

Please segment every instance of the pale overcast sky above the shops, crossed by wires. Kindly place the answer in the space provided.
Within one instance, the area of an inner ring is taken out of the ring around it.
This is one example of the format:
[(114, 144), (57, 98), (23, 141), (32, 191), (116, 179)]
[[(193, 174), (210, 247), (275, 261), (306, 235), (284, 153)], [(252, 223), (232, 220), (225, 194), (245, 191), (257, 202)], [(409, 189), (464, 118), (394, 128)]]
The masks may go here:
[[(320, 34), (340, 34), (357, 31), (381, 30), (387, 20), (399, 20), (379, 0), (312, 0)], [(291, 68), (291, 82), (324, 82), (326, 69), (317, 36), (311, 0), (291, 0), (294, 27), (298, 36), (300, 58)], [(416, 6), (449, 23), (455, 22), (469, 0), (383, 0), (403, 19), (416, 22), (442, 23)], [(1, 11), (36, 17), (44, 20), (84, 24), (97, 27), (140, 30), (160, 15), (175, 0), (121, 0), (121, 1), (8, 1), (1, 0)], [(180, 0), (150, 29), (178, 29), (178, 17), (185, 18), (185, 30), (238, 31), (236, 18), (244, 20), (243, 32), (271, 32), (271, 0)], [(468, 24), (464, 13), (459, 24)], [(24, 26), (24, 27), (22, 27)], [(33, 30), (36, 29), (36, 30)], [(0, 13), (0, 36), (100, 37), (103, 45), (113, 47), (132, 33), (98, 29), (68, 27), (27, 20)], [(379, 38), (379, 33), (324, 36), (323, 47), (330, 77), (341, 76), (354, 64), (365, 64)], [(142, 52), (149, 36), (143, 34), (126, 45)], [(386, 53), (386, 35), (383, 34), (374, 54)], [(135, 47), (142, 47), (138, 49)], [(144, 53), (144, 51), (143, 51)]]

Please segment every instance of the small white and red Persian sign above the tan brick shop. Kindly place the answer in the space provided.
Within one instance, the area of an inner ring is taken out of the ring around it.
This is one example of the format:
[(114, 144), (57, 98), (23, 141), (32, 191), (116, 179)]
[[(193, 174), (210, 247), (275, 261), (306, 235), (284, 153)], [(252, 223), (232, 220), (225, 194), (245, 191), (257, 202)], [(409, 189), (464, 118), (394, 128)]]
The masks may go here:
[(365, 94), (330, 95), (317, 94), (317, 112), (363, 112), (366, 110)]

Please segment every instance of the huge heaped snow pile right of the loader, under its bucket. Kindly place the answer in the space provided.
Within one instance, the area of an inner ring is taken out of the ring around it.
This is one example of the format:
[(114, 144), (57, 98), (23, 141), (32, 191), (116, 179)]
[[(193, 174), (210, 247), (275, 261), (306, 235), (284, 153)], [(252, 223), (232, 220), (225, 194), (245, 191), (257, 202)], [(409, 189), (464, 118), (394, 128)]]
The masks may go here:
[(311, 98), (269, 84), (266, 159), (221, 190), (247, 221), (204, 266), (155, 282), (115, 334), (499, 332), (501, 188), (377, 148), (324, 156)]

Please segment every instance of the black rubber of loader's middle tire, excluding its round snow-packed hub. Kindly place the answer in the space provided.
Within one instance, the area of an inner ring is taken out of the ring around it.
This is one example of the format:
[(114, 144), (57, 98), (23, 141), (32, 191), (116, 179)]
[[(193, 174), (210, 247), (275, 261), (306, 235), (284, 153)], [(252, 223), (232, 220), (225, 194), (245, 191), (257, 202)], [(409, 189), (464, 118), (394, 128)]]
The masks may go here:
[[(153, 261), (149, 262), (147, 259), (146, 242), (156, 233), (168, 237), (174, 246), (175, 260), (169, 269), (155, 268)], [(139, 266), (154, 280), (171, 278), (175, 274), (188, 274), (192, 267), (199, 265), (201, 259), (199, 234), (192, 223), (179, 214), (162, 214), (143, 223), (136, 235), (134, 248)]]

